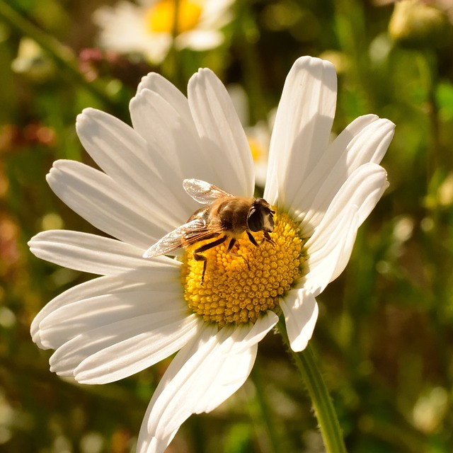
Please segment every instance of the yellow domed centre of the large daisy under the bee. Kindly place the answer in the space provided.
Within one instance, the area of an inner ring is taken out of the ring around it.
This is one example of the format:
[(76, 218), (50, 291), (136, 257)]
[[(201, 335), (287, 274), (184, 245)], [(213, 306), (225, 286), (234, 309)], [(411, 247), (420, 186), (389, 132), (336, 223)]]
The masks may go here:
[(275, 214), (275, 228), (270, 234), (275, 243), (264, 241), (261, 231), (253, 236), (258, 247), (251, 243), (245, 232), (236, 241), (231, 252), (240, 256), (226, 251), (229, 241), (203, 252), (207, 258), (203, 284), (203, 262), (193, 257), (193, 251), (202, 243), (195, 243), (185, 251), (182, 266), (184, 297), (189, 308), (205, 321), (216, 322), (219, 326), (254, 323), (261, 312), (278, 310), (280, 297), (302, 274), (307, 258), (306, 240), (287, 214)]

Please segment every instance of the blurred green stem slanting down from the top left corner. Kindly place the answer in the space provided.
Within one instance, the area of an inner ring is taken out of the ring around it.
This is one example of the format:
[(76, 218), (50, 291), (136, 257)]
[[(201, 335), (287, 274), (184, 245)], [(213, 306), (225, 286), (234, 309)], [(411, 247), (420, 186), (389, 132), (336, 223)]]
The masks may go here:
[(67, 73), (76, 83), (81, 84), (103, 103), (115, 107), (113, 99), (94, 82), (88, 82), (84, 75), (79, 71), (76, 59), (69, 47), (66, 47), (52, 35), (48, 35), (36, 25), (21, 16), (18, 11), (11, 8), (4, 0), (0, 0), (0, 20), (8, 23), (12, 28), (25, 36), (33, 38), (42, 49), (44, 49), (55, 62), (66, 69)]

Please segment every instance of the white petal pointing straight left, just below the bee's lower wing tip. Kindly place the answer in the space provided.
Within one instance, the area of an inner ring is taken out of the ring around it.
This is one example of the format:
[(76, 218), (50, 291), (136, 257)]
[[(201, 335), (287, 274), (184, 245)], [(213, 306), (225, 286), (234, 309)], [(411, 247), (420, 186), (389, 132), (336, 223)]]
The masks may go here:
[(180, 263), (166, 256), (142, 258), (143, 250), (115, 239), (69, 230), (42, 231), (28, 242), (42, 260), (64, 268), (98, 275), (117, 275), (125, 280), (144, 280), (151, 273), (176, 273)]

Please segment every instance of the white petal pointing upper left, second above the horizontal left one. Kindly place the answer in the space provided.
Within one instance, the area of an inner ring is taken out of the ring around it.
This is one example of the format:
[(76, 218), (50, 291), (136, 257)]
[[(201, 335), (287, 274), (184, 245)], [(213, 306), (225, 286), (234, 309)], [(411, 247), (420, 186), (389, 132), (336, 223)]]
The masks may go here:
[[(152, 150), (132, 127), (107, 113), (85, 109), (77, 117), (77, 134), (86, 151), (125, 192), (167, 220), (173, 228), (185, 219), (186, 198), (170, 188), (177, 174), (159, 150)], [(183, 195), (183, 190), (176, 188)]]

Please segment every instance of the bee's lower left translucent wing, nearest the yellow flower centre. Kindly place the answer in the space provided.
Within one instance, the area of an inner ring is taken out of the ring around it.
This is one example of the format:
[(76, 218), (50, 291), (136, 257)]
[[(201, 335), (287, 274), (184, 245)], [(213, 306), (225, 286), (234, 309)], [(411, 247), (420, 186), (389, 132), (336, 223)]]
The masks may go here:
[(156, 256), (166, 255), (177, 248), (189, 246), (198, 240), (194, 238), (204, 234), (206, 231), (205, 222), (202, 219), (194, 219), (187, 224), (179, 226), (177, 229), (173, 229), (162, 239), (159, 239), (154, 246), (149, 247), (143, 253), (143, 258), (155, 258)]

